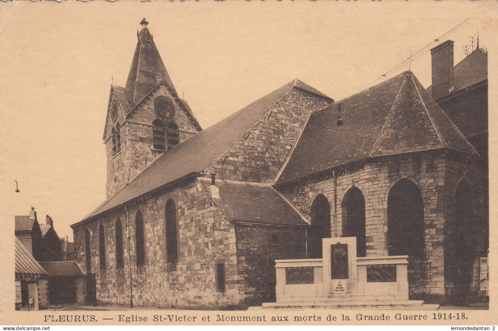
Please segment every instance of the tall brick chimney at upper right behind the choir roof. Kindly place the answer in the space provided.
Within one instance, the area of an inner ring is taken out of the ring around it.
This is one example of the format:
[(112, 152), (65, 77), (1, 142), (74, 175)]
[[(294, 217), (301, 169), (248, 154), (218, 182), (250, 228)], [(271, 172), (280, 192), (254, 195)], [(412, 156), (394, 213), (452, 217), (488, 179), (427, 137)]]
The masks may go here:
[(453, 40), (446, 40), (431, 49), (432, 99), (437, 100), (453, 91)]

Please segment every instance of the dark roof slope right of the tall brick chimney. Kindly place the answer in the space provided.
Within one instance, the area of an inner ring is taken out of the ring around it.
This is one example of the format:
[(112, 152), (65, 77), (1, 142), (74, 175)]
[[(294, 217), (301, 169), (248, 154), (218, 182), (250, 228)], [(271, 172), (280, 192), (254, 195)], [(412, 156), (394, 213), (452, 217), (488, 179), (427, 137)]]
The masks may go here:
[[(487, 80), (488, 53), (477, 48), (454, 67), (453, 77), (454, 88), (452, 93)], [(432, 85), (427, 88), (427, 92), (429, 95), (432, 94)]]

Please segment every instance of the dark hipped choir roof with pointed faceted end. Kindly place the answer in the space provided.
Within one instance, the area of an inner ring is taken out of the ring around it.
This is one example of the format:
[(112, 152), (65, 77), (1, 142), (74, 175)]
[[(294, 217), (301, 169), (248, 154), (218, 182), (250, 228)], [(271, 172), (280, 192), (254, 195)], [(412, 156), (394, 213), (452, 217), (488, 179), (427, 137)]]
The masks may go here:
[[(336, 124), (339, 107), (341, 126)], [(406, 71), (313, 112), (277, 183), (368, 157), (436, 148), (476, 154), (417, 78)]]

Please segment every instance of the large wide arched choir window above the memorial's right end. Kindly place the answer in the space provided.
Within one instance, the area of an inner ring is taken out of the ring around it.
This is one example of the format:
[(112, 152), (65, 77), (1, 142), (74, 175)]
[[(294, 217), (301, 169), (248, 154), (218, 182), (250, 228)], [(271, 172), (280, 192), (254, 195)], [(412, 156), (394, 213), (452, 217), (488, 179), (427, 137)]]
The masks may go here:
[(424, 203), (418, 186), (401, 179), (387, 195), (387, 245), (389, 255), (408, 255), (410, 300), (420, 298), (425, 280)]

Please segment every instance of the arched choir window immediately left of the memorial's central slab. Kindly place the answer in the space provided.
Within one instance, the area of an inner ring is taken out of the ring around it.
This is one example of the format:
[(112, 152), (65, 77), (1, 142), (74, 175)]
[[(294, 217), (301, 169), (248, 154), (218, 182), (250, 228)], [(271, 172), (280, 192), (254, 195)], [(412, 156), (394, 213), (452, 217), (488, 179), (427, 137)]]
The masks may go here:
[(330, 238), (330, 204), (319, 194), (311, 204), (311, 227), (308, 235), (308, 257), (322, 257), (322, 238)]

